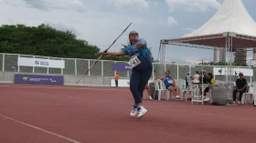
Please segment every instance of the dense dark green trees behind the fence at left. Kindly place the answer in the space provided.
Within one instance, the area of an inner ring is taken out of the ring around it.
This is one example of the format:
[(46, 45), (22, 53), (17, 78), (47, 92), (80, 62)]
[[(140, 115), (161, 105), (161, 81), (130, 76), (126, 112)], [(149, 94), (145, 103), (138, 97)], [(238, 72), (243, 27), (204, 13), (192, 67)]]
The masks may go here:
[(47, 25), (0, 26), (0, 52), (36, 56), (95, 59), (100, 48), (77, 39), (70, 31), (59, 31)]

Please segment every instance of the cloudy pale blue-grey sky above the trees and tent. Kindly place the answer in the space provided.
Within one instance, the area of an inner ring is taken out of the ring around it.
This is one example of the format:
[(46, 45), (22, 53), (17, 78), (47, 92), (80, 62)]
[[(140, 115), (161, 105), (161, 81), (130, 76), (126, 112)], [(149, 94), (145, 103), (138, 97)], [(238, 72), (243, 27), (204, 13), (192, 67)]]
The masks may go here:
[[(133, 25), (112, 46), (119, 51), (128, 33), (139, 32), (158, 56), (161, 39), (184, 36), (202, 26), (224, 0), (0, 0), (0, 24), (37, 26), (42, 23), (71, 30), (101, 50), (110, 46), (131, 22)], [(256, 0), (242, 0), (256, 20)], [(197, 55), (192, 55), (197, 52)], [(248, 52), (250, 61), (252, 52)], [(213, 51), (166, 46), (166, 61), (179, 64), (212, 61)], [(249, 63), (250, 64), (250, 63)]]

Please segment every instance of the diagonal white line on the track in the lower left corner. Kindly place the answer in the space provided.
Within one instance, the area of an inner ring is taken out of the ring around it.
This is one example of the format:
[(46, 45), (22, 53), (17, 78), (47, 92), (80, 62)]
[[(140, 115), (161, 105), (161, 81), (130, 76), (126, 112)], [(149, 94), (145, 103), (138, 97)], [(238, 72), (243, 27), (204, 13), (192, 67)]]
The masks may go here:
[(36, 126), (27, 124), (27, 123), (25, 123), (25, 122), (19, 121), (19, 120), (15, 119), (15, 118), (12, 118), (12, 117), (6, 117), (6, 116), (4, 116), (4, 115), (2, 115), (2, 114), (0, 114), (0, 117), (5, 117), (5, 118), (10, 119), (10, 120), (12, 120), (12, 121), (15, 121), (15, 122), (17, 122), (17, 123), (20, 123), (20, 124), (22, 124), (22, 125), (25, 125), (25, 126), (27, 126), (27, 127), (29, 127), (29, 128), (35, 128), (35, 129), (37, 129), (37, 130), (43, 131), (43, 132), (45, 132), (45, 133), (48, 133), (48, 134), (50, 134), (50, 135), (53, 135), (53, 136), (56, 136), (56, 137), (59, 137), (59, 138), (63, 138), (63, 139), (69, 140), (70, 142), (73, 142), (73, 143), (81, 143), (80, 141), (74, 140), (74, 139), (72, 139), (72, 138), (67, 138), (67, 137), (61, 136), (61, 135), (59, 135), (59, 134), (50, 132), (50, 131), (48, 131), (48, 130), (46, 130), (46, 129), (43, 129), (43, 128), (38, 128), (38, 127), (36, 127)]

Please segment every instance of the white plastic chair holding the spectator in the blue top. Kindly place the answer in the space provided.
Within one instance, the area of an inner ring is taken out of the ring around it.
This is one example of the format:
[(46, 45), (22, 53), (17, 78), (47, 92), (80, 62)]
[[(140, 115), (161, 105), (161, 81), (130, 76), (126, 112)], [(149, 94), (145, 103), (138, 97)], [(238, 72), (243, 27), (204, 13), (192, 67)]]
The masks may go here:
[[(162, 91), (165, 91), (165, 92), (167, 92), (167, 95), (165, 94), (165, 98), (167, 99), (167, 100), (169, 100), (169, 98), (170, 98), (170, 92), (169, 92), (169, 90), (167, 90), (166, 88), (165, 88), (165, 86), (164, 86), (165, 84), (164, 84), (164, 82), (162, 81), (162, 80), (160, 80), (160, 79), (156, 79), (155, 80), (155, 92), (157, 91), (158, 92), (158, 100), (161, 100), (161, 98), (162, 98)], [(154, 92), (154, 98), (155, 98), (155, 92)]]

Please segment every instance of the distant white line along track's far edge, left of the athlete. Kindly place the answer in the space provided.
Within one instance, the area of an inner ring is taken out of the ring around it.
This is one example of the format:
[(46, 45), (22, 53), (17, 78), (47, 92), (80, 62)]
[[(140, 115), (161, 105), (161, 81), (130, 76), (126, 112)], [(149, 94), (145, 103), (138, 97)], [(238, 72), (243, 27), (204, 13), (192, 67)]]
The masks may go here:
[[(20, 86), (0, 86), (0, 87), (20, 87)], [(22, 87), (22, 86), (21, 86)], [(48, 88), (48, 89), (73, 89), (73, 90), (102, 90), (102, 91), (106, 91), (106, 90), (109, 90), (109, 91), (129, 91), (130, 90), (122, 90), (122, 89), (104, 89), (104, 88), (79, 88), (79, 87), (22, 87), (22, 88)]]

